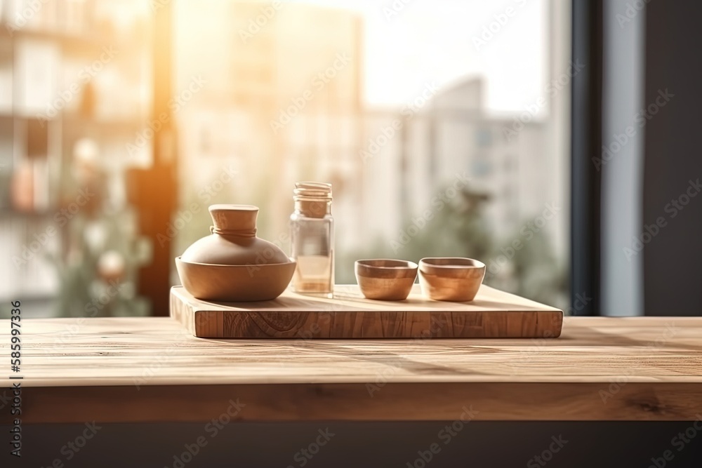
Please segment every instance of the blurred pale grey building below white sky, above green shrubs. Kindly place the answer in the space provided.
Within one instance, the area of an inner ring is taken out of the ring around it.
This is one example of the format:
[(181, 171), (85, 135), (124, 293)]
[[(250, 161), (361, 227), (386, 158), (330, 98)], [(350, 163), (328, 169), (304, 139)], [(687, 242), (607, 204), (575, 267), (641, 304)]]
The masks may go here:
[[(435, 210), (438, 203), (432, 207), (432, 199), (454, 183), (486, 200), (485, 222), (498, 233), (515, 232), (520, 220), (543, 210), (541, 200), (555, 187), (556, 176), (548, 170), (553, 156), (545, 149), (545, 123), (531, 119), (512, 131), (517, 116), (485, 112), (484, 86), (482, 79), (467, 79), (436, 89), (426, 100), (419, 93), (395, 114), (385, 113), (366, 126), (361, 159), (364, 212), (373, 220), (369, 229), (377, 226), (380, 236), (397, 238), (406, 218)], [(385, 142), (397, 120), (402, 128)], [(382, 195), (388, 192), (395, 196)]]

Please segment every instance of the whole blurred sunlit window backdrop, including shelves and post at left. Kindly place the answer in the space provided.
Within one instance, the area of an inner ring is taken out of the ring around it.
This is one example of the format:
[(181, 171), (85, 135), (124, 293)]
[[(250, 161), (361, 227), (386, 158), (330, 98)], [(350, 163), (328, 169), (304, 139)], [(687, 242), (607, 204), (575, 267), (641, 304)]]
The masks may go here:
[(164, 314), (208, 205), (284, 244), (300, 180), (333, 184), (338, 283), (467, 256), (567, 305), (569, 2), (34, 4), (0, 1), (0, 295), (30, 314)]

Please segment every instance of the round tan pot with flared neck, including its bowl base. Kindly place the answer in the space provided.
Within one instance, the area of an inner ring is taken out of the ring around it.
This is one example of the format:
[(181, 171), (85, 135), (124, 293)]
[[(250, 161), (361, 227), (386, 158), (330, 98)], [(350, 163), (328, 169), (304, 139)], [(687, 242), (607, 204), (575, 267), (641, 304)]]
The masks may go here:
[(183, 287), (202, 300), (271, 300), (288, 286), (292, 261), (274, 243), (256, 237), (258, 207), (212, 205), (213, 226), (176, 258)]

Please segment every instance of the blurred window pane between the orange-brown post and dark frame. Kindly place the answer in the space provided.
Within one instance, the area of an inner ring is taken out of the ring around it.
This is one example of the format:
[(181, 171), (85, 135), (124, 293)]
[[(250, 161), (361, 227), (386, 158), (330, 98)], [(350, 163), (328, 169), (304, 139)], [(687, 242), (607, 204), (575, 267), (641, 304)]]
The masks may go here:
[[(569, 69), (565, 3), (178, 2), (176, 82), (208, 80), (178, 114), (180, 205), (255, 204), (259, 234), (285, 239), (293, 183), (332, 182), (337, 282), (357, 258), (462, 255), (486, 283), (566, 305), (569, 94), (548, 88)], [(201, 158), (203, 128), (222, 161)], [(236, 177), (199, 197), (232, 159)], [(548, 203), (557, 216), (524, 238)], [(201, 213), (176, 253), (206, 234)]]

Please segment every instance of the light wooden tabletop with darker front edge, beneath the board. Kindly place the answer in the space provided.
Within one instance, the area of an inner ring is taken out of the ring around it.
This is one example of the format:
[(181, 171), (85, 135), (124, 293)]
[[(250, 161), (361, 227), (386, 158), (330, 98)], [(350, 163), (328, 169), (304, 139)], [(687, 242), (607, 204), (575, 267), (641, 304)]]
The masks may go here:
[[(8, 356), (9, 340), (1, 347)], [(27, 423), (206, 421), (237, 399), (243, 421), (702, 415), (702, 318), (567, 317), (552, 340), (354, 341), (204, 340), (169, 318), (34, 319), (22, 321), (22, 353)]]

